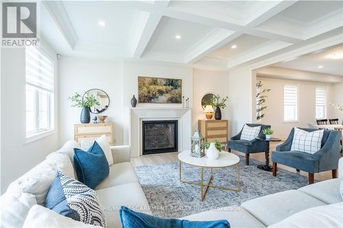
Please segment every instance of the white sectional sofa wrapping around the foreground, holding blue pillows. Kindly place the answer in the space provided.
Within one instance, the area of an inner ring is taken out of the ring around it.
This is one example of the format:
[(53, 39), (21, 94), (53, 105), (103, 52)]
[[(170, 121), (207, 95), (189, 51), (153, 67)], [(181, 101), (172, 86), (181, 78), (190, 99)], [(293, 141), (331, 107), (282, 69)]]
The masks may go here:
[[(11, 183), (7, 192), (1, 196), (1, 227), (21, 227), (27, 213), (29, 213), (30, 219), (36, 216), (31, 214), (31, 211), (29, 212), (29, 208), (38, 207), (35, 204), (44, 205), (45, 195), (58, 168), (62, 169), (64, 173), (74, 175), (75, 170), (73, 170), (73, 160), (71, 159), (73, 153), (70, 150), (73, 144), (65, 147), (52, 153), (45, 161)], [(108, 227), (121, 227), (118, 213), (121, 205), (147, 214), (152, 214), (152, 212), (130, 163), (130, 148), (128, 146), (111, 147), (111, 150), (115, 164), (110, 166), (110, 174), (95, 190), (104, 207)], [(343, 158), (340, 159), (338, 179), (321, 181), (298, 190), (270, 194), (246, 201), (241, 206), (201, 212), (183, 219), (226, 219), (233, 228), (338, 227), (338, 224), (343, 227), (343, 203), (340, 195), (342, 176)], [(8, 207), (9, 205), (11, 207)], [(234, 210), (232, 210), (233, 208)], [(40, 211), (44, 213), (43, 209)], [(51, 212), (47, 212), (49, 215), (45, 216), (46, 218), (37, 216), (36, 219), (45, 218), (48, 222), (54, 220), (52, 223), (54, 225), (50, 227), (69, 227), (69, 225), (70, 227), (88, 227), (58, 214), (51, 216), (53, 214)], [(318, 222), (318, 218), (320, 222)], [(29, 224), (41, 226), (42, 223), (37, 221), (37, 223)]]

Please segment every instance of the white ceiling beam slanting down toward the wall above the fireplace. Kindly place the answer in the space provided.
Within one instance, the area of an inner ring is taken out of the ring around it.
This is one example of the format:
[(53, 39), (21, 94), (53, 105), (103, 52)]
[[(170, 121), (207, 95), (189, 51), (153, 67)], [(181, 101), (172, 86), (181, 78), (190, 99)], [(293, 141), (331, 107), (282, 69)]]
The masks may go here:
[(141, 58), (141, 56), (143, 55), (143, 52), (147, 47), (150, 39), (152, 38), (152, 35), (154, 34), (158, 23), (161, 21), (161, 11), (167, 8), (168, 5), (169, 1), (156, 1), (153, 7), (149, 8), (150, 12), (146, 19), (138, 18), (138, 23), (141, 23), (141, 21), (145, 21), (145, 23), (143, 23), (141, 27), (137, 28), (136, 32), (138, 32), (139, 34), (136, 36), (136, 41), (131, 42), (133, 58)]

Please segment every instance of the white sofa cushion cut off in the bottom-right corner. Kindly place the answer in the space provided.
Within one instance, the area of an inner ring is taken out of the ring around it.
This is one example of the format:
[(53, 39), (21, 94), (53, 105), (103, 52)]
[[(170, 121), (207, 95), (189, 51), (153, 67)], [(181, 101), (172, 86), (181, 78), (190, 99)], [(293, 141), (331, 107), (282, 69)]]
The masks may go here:
[(300, 227), (343, 227), (343, 203), (335, 203), (320, 207), (311, 207), (298, 212), (270, 227), (300, 228)]

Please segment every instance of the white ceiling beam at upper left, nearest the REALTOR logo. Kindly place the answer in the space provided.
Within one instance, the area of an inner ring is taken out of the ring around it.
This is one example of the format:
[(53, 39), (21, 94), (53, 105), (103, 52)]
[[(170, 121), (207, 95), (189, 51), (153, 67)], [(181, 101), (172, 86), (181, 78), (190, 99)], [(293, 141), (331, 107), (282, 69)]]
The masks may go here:
[(64, 8), (62, 1), (43, 1), (45, 8), (55, 21), (62, 36), (67, 41), (69, 47), (73, 50), (76, 42), (78, 42), (78, 35), (75, 32), (73, 25), (69, 19), (67, 11)]

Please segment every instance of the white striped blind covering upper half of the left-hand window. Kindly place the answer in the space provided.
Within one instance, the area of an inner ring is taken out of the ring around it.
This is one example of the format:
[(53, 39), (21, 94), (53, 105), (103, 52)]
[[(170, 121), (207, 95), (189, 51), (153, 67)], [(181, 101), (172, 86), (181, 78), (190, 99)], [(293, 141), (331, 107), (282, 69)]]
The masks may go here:
[(54, 63), (36, 47), (26, 47), (26, 83), (54, 91)]

